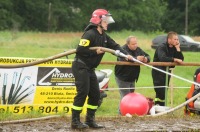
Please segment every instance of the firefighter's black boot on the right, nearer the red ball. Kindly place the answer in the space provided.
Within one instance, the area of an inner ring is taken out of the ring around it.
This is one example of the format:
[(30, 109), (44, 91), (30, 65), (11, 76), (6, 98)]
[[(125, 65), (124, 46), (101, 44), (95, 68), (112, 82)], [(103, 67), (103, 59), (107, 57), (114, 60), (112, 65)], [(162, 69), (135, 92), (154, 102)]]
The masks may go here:
[(95, 111), (91, 110), (87, 111), (85, 124), (87, 124), (90, 128), (104, 128), (104, 126), (95, 122)]

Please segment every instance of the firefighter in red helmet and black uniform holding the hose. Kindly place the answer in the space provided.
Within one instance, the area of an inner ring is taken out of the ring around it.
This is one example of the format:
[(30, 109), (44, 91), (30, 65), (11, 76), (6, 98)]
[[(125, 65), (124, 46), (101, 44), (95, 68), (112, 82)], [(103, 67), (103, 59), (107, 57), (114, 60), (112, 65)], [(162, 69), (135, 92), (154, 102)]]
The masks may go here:
[[(90, 24), (86, 27), (77, 47), (76, 56), (72, 64), (72, 72), (75, 77), (75, 85), (77, 88), (77, 95), (74, 98), (72, 107), (71, 128), (73, 129), (103, 127), (95, 122), (95, 112), (100, 99), (100, 90), (94, 70), (99, 65), (104, 55), (104, 51), (102, 51), (101, 47), (120, 50), (122, 53), (128, 54), (105, 33), (110, 23), (114, 23), (114, 20), (107, 10), (95, 10), (90, 19)], [(90, 47), (99, 48), (94, 51), (90, 50)], [(127, 56), (128, 59), (132, 59), (132, 56)], [(80, 121), (80, 113), (82, 112), (87, 96), (86, 121), (82, 123)]]

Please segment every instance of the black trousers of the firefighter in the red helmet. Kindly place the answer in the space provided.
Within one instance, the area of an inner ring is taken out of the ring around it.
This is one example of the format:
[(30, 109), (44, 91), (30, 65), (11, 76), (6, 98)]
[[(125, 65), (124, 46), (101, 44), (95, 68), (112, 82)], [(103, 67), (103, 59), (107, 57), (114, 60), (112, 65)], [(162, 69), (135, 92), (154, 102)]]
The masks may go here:
[(89, 69), (85, 64), (74, 61), (72, 72), (75, 77), (77, 95), (74, 98), (74, 106), (83, 107), (88, 96), (88, 104), (98, 106), (100, 90), (94, 69)]

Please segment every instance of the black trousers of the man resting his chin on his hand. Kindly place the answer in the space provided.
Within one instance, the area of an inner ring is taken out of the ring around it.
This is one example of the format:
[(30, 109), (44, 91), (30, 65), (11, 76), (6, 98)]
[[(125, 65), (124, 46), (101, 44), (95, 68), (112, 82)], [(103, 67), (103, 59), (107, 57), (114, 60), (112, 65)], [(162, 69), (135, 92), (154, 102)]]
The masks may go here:
[[(171, 73), (171, 70), (168, 71)], [(165, 89), (166, 87), (159, 87), (159, 86), (165, 86), (166, 85), (166, 74), (161, 73), (160, 71), (152, 70), (152, 78), (153, 78), (153, 85), (154, 85), (154, 91), (156, 93), (156, 98), (160, 100), (165, 100)], [(167, 86), (169, 86), (171, 76), (168, 75), (168, 82)], [(165, 106), (165, 102), (163, 101), (155, 101), (155, 104), (159, 104), (161, 106)]]

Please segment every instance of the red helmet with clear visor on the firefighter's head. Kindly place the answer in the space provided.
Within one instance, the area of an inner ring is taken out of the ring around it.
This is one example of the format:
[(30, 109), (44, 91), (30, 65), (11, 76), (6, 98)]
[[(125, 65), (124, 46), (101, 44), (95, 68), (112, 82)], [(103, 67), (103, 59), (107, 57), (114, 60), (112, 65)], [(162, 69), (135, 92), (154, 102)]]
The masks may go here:
[(99, 24), (102, 20), (106, 21), (108, 24), (115, 22), (112, 18), (112, 15), (107, 10), (96, 9), (92, 13), (92, 18), (90, 19), (90, 22), (93, 24)]

